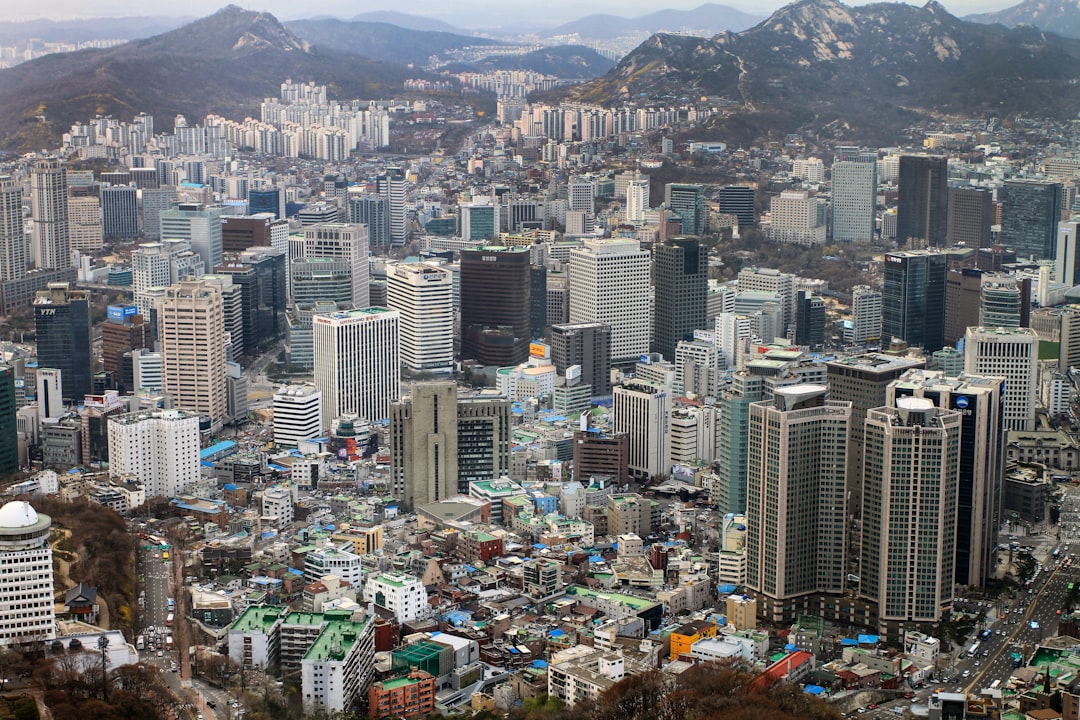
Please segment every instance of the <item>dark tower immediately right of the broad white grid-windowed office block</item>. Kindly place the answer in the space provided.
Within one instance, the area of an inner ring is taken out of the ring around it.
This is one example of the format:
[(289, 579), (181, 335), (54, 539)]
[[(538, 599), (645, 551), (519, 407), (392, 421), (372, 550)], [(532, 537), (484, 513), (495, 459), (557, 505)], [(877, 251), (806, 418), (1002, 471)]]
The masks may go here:
[(707, 327), (708, 249), (697, 237), (673, 237), (652, 253), (652, 350), (674, 361), (679, 340)]

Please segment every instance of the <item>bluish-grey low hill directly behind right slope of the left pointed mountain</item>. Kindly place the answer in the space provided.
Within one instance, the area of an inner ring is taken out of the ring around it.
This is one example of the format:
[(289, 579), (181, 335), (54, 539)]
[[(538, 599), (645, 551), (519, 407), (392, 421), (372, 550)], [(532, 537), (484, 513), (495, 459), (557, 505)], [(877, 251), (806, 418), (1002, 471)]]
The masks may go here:
[(286, 27), (321, 47), (355, 53), (383, 63), (422, 66), (431, 55), (467, 45), (494, 45), (495, 40), (450, 32), (411, 30), (388, 23), (303, 19)]

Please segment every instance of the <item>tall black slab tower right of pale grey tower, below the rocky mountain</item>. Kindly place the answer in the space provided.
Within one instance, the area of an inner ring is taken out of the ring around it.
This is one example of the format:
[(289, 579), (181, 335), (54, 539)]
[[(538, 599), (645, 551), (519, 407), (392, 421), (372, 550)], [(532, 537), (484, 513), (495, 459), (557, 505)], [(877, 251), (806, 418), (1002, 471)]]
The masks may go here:
[(900, 157), (896, 241), (908, 247), (944, 247), (948, 230), (948, 158)]

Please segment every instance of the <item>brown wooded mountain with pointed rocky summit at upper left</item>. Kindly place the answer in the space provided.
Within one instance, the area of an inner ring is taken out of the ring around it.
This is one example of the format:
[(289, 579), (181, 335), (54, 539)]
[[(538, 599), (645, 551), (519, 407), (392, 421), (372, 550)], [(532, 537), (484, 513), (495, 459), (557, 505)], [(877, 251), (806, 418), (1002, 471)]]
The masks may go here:
[(49, 55), (0, 70), (0, 148), (55, 147), (95, 114), (140, 111), (168, 128), (176, 114), (243, 119), (286, 79), (328, 85), (334, 97), (386, 97), (415, 71), (319, 49), (272, 15), (234, 5), (145, 40), (108, 50)]

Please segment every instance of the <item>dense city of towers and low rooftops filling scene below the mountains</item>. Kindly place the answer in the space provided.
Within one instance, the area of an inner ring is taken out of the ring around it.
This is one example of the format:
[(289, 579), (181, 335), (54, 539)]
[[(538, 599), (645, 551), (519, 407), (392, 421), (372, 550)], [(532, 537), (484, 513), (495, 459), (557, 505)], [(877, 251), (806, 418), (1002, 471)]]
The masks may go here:
[(1080, 718), (1076, 121), (581, 81), (0, 158), (0, 718)]

